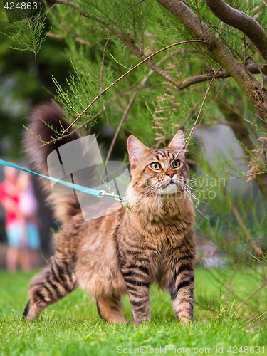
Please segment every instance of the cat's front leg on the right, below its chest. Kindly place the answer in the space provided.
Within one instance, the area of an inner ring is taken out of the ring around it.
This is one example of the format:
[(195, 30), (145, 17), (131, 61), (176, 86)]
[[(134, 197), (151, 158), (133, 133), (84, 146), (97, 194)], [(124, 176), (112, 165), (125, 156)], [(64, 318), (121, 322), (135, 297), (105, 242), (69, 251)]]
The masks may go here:
[(193, 319), (194, 255), (188, 250), (169, 253), (167, 289), (172, 298), (176, 318), (182, 323)]

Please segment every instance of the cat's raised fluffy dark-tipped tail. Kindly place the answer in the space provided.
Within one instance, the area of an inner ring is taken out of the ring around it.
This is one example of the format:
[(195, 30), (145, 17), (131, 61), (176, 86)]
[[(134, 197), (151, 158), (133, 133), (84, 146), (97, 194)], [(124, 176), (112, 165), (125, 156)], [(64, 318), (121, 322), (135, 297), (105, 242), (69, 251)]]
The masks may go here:
[[(37, 105), (31, 111), (28, 118), (28, 129), (43, 141), (50, 141), (55, 132), (62, 131), (62, 127), (66, 129), (68, 123), (63, 119), (63, 113), (60, 108), (54, 103), (42, 103)], [(23, 146), (28, 155), (28, 159), (33, 164), (33, 168), (38, 173), (48, 175), (47, 157), (58, 147), (65, 145), (67, 142), (76, 140), (79, 135), (73, 132), (70, 136), (64, 137), (56, 143), (43, 145), (41, 140), (38, 140), (29, 130), (23, 133)], [(71, 130), (70, 130), (71, 132)], [(48, 179), (41, 178), (41, 184), (46, 193), (48, 193), (48, 203), (53, 209), (53, 214), (58, 221), (66, 224), (70, 218), (79, 214), (80, 204), (76, 195), (63, 195), (53, 193), (51, 183)]]

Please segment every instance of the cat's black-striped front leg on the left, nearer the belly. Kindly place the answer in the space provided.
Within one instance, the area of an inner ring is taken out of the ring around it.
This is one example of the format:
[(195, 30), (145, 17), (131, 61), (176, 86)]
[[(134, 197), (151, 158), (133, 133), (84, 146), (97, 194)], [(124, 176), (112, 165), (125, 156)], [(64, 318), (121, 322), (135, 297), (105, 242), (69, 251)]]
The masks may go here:
[(150, 320), (149, 274), (143, 263), (131, 263), (121, 266), (121, 272), (129, 295), (132, 318), (135, 323)]

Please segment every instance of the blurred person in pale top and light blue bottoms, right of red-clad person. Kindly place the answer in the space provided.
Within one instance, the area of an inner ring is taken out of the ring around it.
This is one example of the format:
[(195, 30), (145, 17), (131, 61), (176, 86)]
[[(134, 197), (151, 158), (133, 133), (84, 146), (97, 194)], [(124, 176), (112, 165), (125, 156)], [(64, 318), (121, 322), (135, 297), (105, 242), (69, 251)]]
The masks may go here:
[(28, 172), (21, 172), (18, 179), (19, 186), (19, 214), (23, 218), (23, 230), (26, 231), (26, 244), (23, 256), (23, 268), (31, 269), (34, 265), (34, 251), (41, 247), (38, 231), (37, 210), (38, 201), (35, 197), (33, 184)]

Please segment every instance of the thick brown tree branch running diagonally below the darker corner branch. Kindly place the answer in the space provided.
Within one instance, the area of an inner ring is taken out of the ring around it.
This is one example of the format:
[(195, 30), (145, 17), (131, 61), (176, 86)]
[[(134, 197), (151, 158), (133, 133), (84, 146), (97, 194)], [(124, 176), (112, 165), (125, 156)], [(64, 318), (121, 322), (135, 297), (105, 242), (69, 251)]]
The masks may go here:
[[(251, 104), (261, 111), (264, 116), (267, 116), (267, 91), (264, 88), (263, 90), (261, 89), (261, 85), (259, 85), (248, 68), (232, 56), (226, 46), (219, 41), (219, 38), (216, 38), (216, 36), (211, 33), (208, 26), (203, 22), (200, 26), (197, 15), (180, 0), (157, 1), (183, 23), (193, 38), (207, 38), (207, 43), (205, 45), (199, 44), (199, 46), (202, 46), (203, 51), (211, 56), (214, 61), (219, 63), (219, 65), (234, 78)], [(203, 36), (202, 29), (205, 37)]]

